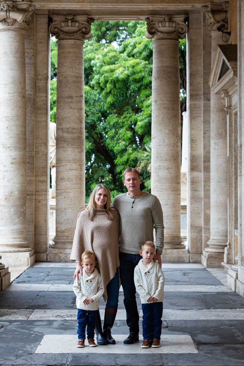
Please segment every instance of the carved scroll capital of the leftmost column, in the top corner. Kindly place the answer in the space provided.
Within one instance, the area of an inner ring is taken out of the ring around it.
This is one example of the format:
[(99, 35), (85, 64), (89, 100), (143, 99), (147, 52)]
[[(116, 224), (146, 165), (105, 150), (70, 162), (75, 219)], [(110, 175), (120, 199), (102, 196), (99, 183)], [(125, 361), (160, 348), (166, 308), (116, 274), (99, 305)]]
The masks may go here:
[(3, 0), (0, 1), (0, 26), (27, 29), (31, 23), (31, 15), (34, 12), (31, 1)]

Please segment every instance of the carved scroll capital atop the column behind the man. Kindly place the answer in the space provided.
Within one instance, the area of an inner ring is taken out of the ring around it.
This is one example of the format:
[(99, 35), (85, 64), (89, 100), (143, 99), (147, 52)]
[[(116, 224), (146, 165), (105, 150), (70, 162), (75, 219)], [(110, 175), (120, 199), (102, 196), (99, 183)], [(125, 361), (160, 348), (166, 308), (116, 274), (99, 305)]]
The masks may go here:
[(187, 33), (187, 25), (184, 23), (184, 15), (149, 16), (147, 22), (147, 38), (175, 39), (184, 38)]

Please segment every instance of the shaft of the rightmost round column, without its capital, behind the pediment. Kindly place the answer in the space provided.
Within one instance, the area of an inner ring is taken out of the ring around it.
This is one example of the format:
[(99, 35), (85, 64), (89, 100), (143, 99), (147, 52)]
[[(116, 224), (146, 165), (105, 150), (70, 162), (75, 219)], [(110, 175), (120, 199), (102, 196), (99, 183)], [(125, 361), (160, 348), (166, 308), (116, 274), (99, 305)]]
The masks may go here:
[[(222, 34), (212, 31), (212, 67)], [(228, 161), (226, 112), (220, 94), (211, 89), (210, 240), (205, 251), (223, 253), (228, 239)]]

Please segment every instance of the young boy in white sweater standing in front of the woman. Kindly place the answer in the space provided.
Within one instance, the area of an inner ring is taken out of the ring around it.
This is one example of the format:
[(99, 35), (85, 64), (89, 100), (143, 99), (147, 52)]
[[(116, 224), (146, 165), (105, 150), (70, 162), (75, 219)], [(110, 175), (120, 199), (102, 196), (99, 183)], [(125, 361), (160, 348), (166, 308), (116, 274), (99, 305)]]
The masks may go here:
[(81, 259), (83, 276), (81, 277), (79, 274), (79, 278), (76, 277), (73, 285), (78, 309), (78, 343), (76, 347), (83, 348), (85, 346), (85, 331), (87, 331), (89, 346), (96, 347), (94, 342), (95, 314), (99, 307), (99, 299), (103, 294), (102, 280), (100, 273), (95, 268), (97, 264), (95, 253), (86, 250)]

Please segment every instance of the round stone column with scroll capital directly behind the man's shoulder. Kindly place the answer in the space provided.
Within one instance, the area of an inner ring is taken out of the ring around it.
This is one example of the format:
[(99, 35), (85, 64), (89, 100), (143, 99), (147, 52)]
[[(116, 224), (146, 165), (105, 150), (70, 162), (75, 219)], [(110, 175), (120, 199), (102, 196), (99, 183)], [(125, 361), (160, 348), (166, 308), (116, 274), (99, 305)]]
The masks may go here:
[[(180, 74), (179, 38), (187, 26), (184, 16), (150, 16), (147, 38), (153, 41), (151, 192), (164, 212), (164, 261), (188, 262), (174, 250), (185, 251), (180, 235)], [(168, 258), (169, 256), (169, 258)]]

